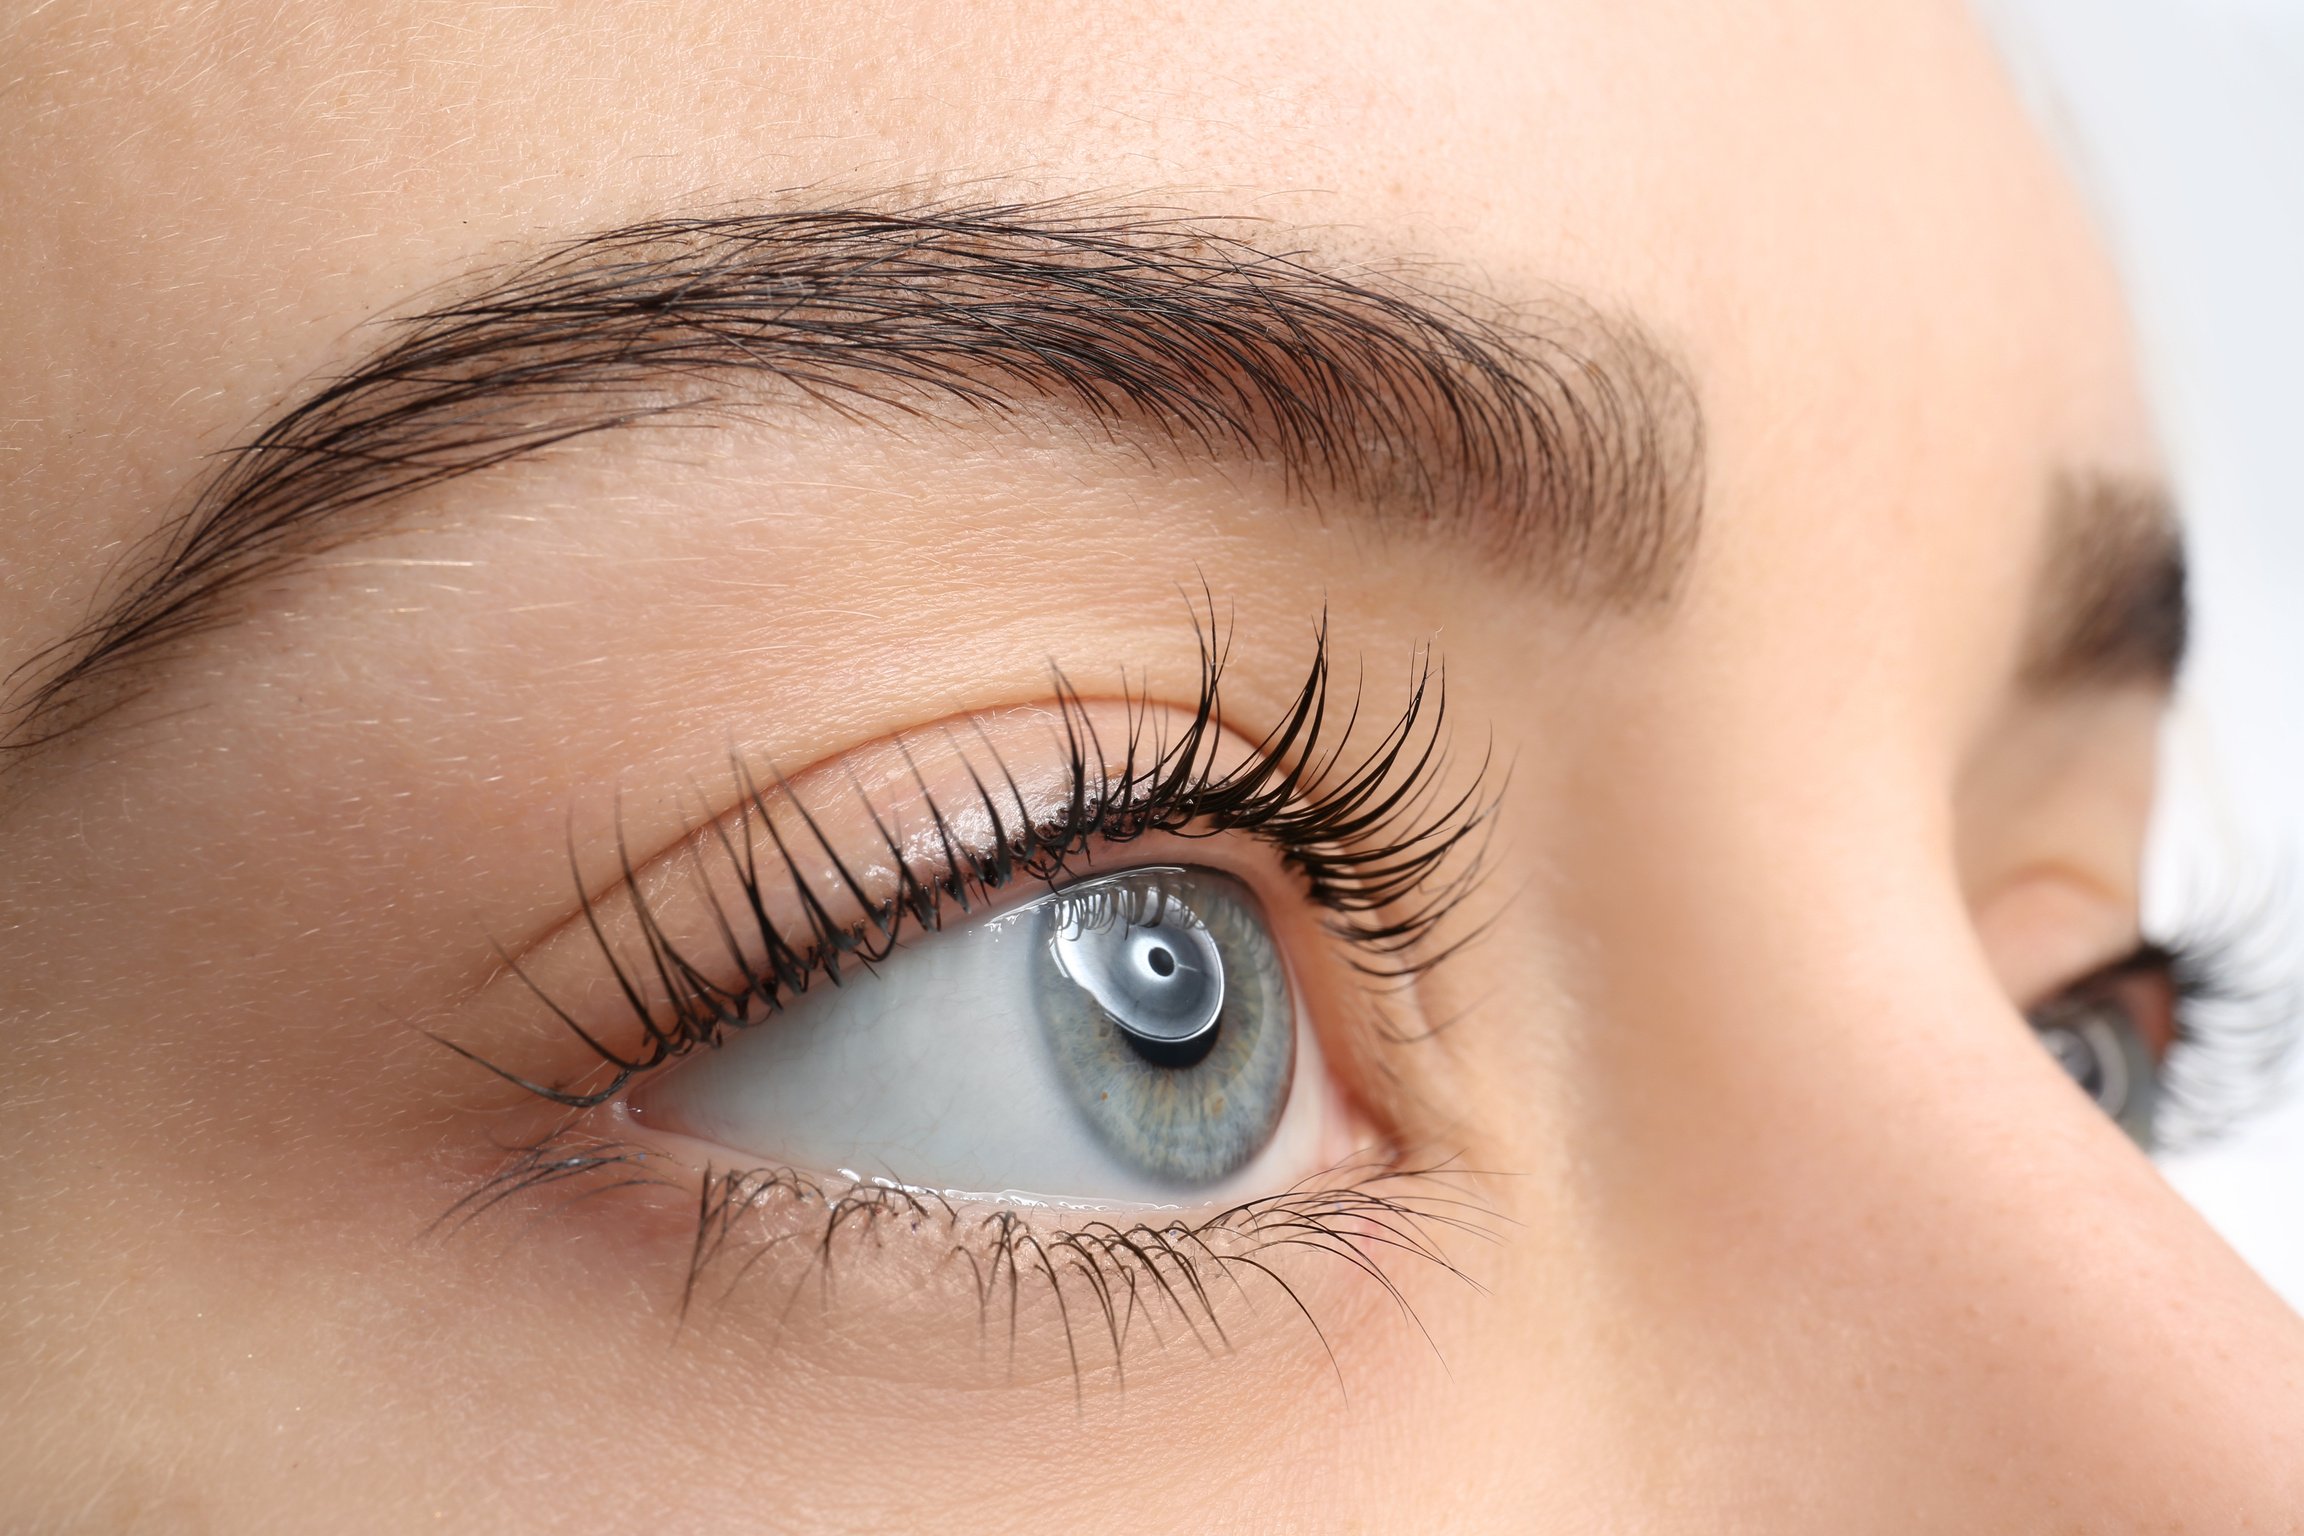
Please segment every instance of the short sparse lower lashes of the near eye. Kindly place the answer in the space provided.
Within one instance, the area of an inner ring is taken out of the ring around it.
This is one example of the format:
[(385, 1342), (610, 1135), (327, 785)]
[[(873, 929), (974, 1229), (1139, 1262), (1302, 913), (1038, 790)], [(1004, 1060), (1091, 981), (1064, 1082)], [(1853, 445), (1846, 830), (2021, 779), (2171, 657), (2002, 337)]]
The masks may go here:
[[(539, 1188), (564, 1188), (564, 1200), (574, 1202), (615, 1191), (677, 1191), (687, 1177), (657, 1154), (569, 1124), (514, 1151), (435, 1227), (461, 1227)], [(696, 1184), (677, 1317), (687, 1322), (705, 1306), (723, 1306), (770, 1276), (783, 1287), (786, 1308), (809, 1285), (829, 1297), (834, 1269), (850, 1250), (931, 1241), (945, 1246), (940, 1267), (968, 1271), (979, 1336), (1002, 1329), (1011, 1368), (1025, 1308), (1053, 1308), (1076, 1398), (1104, 1370), (1113, 1384), (1124, 1384), (1138, 1336), (1164, 1347), (1180, 1329), (1207, 1354), (1228, 1352), (1233, 1308), (1253, 1310), (1258, 1290), (1283, 1299), (1311, 1329), (1341, 1389), (1343, 1370), (1327, 1333), (1299, 1278), (1286, 1273), (1290, 1260), (1320, 1255), (1346, 1264), (1422, 1333), (1394, 1271), (1405, 1262), (1475, 1285), (1447, 1244), (1495, 1241), (1498, 1221), (1477, 1193), (1477, 1174), (1452, 1163), (1399, 1168), (1364, 1158), (1212, 1216), (1099, 1218), (1078, 1227), (1018, 1207), (954, 1202), (892, 1179), (825, 1181), (790, 1168), (707, 1168)], [(797, 1269), (774, 1269), (776, 1253), (799, 1255)]]

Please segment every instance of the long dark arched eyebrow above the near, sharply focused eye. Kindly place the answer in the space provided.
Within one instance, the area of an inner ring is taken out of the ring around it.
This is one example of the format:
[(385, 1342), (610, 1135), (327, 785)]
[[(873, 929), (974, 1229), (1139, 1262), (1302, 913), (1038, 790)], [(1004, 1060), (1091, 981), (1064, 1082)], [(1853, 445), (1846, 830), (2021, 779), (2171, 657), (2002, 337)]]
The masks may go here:
[(1502, 311), (1332, 269), (1274, 226), (1064, 203), (659, 219), (382, 322), (219, 456), (147, 557), (16, 670), (0, 746), (53, 742), (249, 590), (419, 491), (643, 424), (1039, 408), (1127, 447), (1276, 470), (1295, 500), (1470, 546), (1587, 603), (1666, 603), (1703, 479), (1696, 391), (1627, 318)]

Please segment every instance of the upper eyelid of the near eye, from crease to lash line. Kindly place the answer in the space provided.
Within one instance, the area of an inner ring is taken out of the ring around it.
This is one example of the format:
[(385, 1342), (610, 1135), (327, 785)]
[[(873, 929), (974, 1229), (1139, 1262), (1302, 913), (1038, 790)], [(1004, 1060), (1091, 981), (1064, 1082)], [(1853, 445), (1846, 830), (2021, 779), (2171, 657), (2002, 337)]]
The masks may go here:
[[(1410, 728), (1412, 716), (1369, 762), (1389, 769)], [(1122, 742), (1117, 765), (1108, 737)], [(1341, 751), (1322, 767), (1334, 769)], [(1011, 884), (1030, 896), (1111, 868), (1117, 847), (1129, 847), (1127, 861), (1207, 864), (1249, 880), (1274, 912), (1293, 914), (1283, 926), (1302, 928), (1299, 951), (1334, 953), (1355, 937), (1366, 946), (1348, 967), (1316, 974), (1405, 972), (1419, 923), (1445, 917), (1470, 884), (1456, 873), (1405, 919), (1380, 900), (1415, 891), (1461, 841), (1461, 822), (1431, 820), (1419, 794), (1419, 776), (1440, 758), (1419, 753), (1401, 785), (1346, 774), (1348, 794), (1320, 801), (1327, 781), (1267, 753), (1270, 742), (1217, 725), (1207, 700), (1187, 714), (1067, 698), (885, 739), (767, 790), (737, 767), (733, 813), (645, 866), (622, 859), (606, 898), (585, 894), (578, 923), (509, 967), (507, 981), (535, 993), (606, 1078), (541, 1082), (463, 1055), (558, 1103), (601, 1103), (809, 986), (878, 963), (908, 930), (998, 905)], [(1461, 818), (1470, 804), (1458, 797), (1447, 813)], [(1362, 843), (1325, 843), (1334, 827)], [(1327, 912), (1313, 919), (1320, 905)], [(1313, 1006), (1325, 1013), (1332, 1002)]]

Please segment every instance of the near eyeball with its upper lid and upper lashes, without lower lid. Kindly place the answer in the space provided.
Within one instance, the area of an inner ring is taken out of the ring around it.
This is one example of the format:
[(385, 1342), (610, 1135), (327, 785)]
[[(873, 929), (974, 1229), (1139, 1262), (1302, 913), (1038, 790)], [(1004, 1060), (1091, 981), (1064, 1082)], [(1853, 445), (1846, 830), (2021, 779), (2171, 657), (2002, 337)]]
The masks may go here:
[[(1463, 942), (1488, 762), (1449, 758), (1428, 654), (1382, 730), (1332, 709), (1325, 633), (1281, 718), (1237, 735), (1212, 633), (1191, 707), (1058, 675), (1044, 705), (797, 778), (733, 758), (728, 808), (682, 813), (643, 864), (620, 847), (604, 898), (578, 868), (578, 921), (507, 979), (590, 1064), (530, 1075), (442, 1039), (576, 1112), (475, 1200), (583, 1163), (684, 1168), (733, 1214), (783, 1188), (839, 1214), (880, 1186), (912, 1211), (1283, 1221), (1428, 1177), (1403, 1170), (1422, 1133), (1371, 1055), (1419, 1039), (1412, 983)], [(1313, 1225), (1352, 1248), (1357, 1216), (1332, 1216)]]

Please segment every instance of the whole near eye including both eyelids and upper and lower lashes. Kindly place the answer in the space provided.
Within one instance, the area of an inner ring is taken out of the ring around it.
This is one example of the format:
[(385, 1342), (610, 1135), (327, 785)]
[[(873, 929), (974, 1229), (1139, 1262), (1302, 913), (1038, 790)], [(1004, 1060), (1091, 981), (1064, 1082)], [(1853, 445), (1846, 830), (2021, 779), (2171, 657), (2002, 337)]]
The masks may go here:
[(1060, 1340), (1076, 1379), (1228, 1349), (1235, 1308), (1322, 1354), (1329, 1303), (1412, 1320), (1403, 1267), (1493, 1232), (1387, 1055), (1479, 933), (1498, 769), (1452, 751), (1428, 656), (1373, 714), (1313, 636), (1249, 735), (1198, 633), (1189, 702), (1055, 675), (790, 776), (740, 760), (677, 845), (606, 891), (578, 868), (495, 983), (548, 1029), (440, 1036), (530, 1126), (442, 1230), (581, 1207), (657, 1239), (680, 1317), (878, 1297), (998, 1322), (1002, 1370)]

